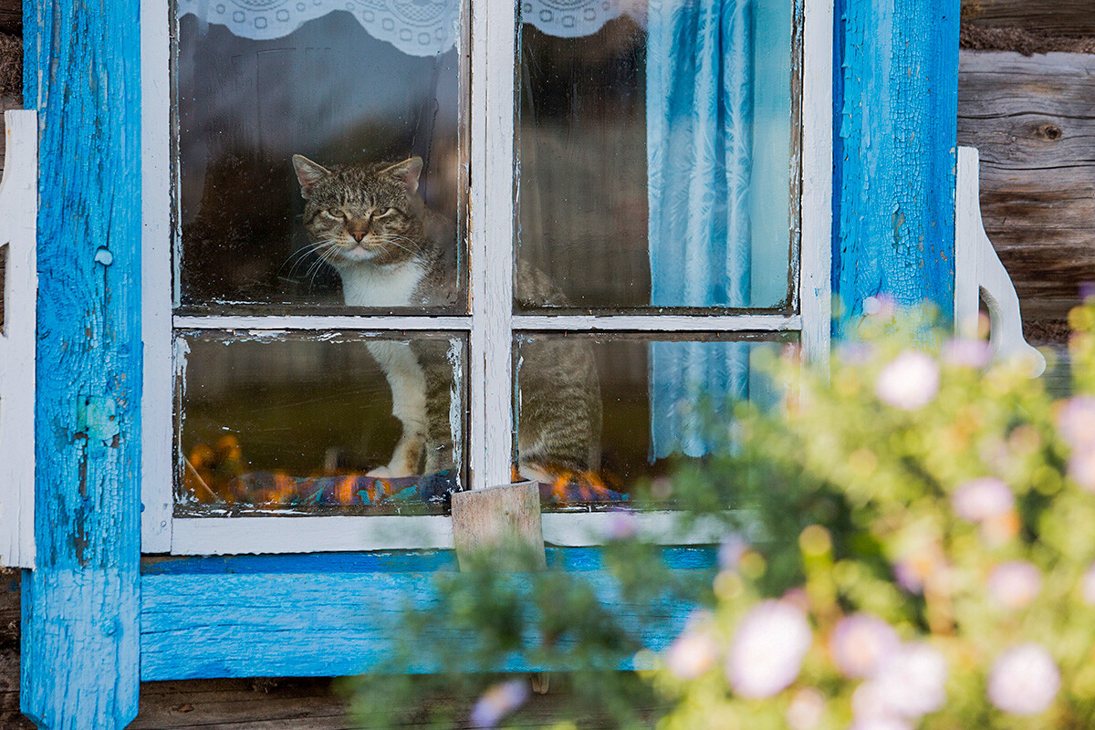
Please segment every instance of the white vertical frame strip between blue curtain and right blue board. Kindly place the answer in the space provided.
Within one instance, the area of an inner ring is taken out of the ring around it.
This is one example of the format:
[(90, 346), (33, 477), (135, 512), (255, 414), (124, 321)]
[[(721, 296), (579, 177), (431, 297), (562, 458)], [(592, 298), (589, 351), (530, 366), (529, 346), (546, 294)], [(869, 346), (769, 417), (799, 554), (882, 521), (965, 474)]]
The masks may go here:
[(833, 0), (807, 0), (803, 28), (803, 189), (798, 302), (803, 352), (828, 363), (832, 316)]

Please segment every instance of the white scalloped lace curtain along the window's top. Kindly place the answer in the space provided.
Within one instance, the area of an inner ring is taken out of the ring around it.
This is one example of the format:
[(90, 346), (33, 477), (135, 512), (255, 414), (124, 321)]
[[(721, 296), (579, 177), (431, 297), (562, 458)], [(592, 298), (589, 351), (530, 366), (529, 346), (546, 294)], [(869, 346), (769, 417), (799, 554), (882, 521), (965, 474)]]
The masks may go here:
[[(463, 0), (178, 0), (180, 15), (223, 25), (233, 35), (269, 40), (289, 35), (330, 12), (349, 12), (374, 38), (411, 56), (443, 54), (457, 42)], [(591, 35), (631, 14), (644, 22), (636, 0), (523, 0), (521, 16), (549, 35)]]

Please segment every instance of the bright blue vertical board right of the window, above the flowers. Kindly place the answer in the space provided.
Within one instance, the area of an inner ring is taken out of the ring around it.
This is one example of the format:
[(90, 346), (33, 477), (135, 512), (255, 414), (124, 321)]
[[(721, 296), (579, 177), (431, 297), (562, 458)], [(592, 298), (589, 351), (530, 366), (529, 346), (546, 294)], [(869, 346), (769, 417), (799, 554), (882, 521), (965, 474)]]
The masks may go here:
[(954, 300), (959, 0), (837, 0), (833, 292)]

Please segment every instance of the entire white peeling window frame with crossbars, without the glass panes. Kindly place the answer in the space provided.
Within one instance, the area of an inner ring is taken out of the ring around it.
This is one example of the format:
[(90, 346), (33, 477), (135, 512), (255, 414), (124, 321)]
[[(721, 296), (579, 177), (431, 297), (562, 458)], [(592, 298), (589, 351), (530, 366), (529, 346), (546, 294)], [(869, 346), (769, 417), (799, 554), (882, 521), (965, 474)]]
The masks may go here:
[[(795, 2), (795, 0), (787, 0)], [(173, 311), (172, 83), (169, 0), (141, 0), (145, 382), (141, 420), (141, 547), (145, 553), (220, 555), (451, 548), (446, 515), (176, 518), (174, 496), (175, 329), (442, 331), (469, 338), (468, 473), (479, 489), (510, 482), (512, 334), (566, 332), (798, 333), (808, 361), (829, 354), (832, 199), (833, 0), (804, 0), (798, 314), (522, 315), (512, 312), (514, 63), (516, 3), (477, 0), (471, 18), (471, 309), (466, 316), (183, 316)], [(489, 19), (489, 22), (488, 22)], [(492, 174), (494, 171), (494, 174)], [(488, 250), (489, 245), (489, 250)], [(488, 253), (489, 252), (489, 253)], [(795, 267), (795, 262), (791, 262)], [(600, 542), (604, 513), (545, 512), (544, 541)], [(710, 543), (713, 531), (675, 534), (668, 512), (639, 514), (643, 534), (665, 543)]]

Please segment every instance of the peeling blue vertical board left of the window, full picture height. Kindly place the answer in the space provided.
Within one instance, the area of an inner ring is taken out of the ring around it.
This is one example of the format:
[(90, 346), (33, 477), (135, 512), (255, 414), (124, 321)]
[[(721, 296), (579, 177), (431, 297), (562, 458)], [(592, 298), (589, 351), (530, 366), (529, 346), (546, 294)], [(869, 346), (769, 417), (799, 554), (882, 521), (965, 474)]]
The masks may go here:
[(39, 141), (37, 567), (24, 573), (21, 703), (42, 728), (137, 715), (139, 0), (24, 0)]

